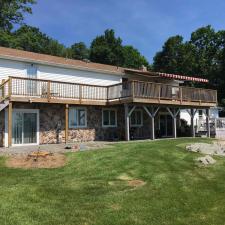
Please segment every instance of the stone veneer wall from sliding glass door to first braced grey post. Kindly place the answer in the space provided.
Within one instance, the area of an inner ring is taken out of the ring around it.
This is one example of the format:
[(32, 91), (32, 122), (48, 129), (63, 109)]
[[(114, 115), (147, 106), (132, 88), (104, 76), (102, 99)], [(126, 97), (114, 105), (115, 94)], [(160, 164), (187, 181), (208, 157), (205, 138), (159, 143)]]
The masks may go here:
[[(117, 127), (102, 127), (102, 106), (82, 106), (87, 108), (87, 127), (70, 129), (69, 142), (94, 140), (124, 139), (124, 107), (117, 109)], [(15, 103), (13, 108), (39, 109), (40, 115), (40, 144), (65, 142), (65, 105)]]

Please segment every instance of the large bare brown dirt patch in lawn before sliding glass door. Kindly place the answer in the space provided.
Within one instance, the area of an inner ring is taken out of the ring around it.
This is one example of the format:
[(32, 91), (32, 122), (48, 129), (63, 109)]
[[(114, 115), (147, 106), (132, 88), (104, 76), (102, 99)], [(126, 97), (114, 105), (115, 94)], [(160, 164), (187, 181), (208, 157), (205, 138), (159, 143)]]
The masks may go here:
[(31, 153), (29, 155), (11, 156), (6, 161), (6, 166), (11, 168), (57, 168), (66, 163), (66, 157), (60, 153), (43, 153), (38, 155)]

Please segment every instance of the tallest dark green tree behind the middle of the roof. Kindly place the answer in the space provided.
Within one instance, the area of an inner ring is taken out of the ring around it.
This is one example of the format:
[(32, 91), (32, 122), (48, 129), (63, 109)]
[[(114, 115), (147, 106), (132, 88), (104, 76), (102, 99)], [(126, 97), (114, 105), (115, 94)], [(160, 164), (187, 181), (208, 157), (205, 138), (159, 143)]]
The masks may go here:
[(91, 43), (90, 60), (92, 62), (122, 66), (124, 64), (121, 38), (115, 37), (114, 30), (106, 30)]

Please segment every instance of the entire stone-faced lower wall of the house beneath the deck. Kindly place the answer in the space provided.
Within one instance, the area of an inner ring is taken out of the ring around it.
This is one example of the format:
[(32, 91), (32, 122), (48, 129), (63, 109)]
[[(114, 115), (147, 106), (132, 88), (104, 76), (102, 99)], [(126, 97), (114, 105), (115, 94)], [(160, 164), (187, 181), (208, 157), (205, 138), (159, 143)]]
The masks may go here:
[[(117, 141), (125, 139), (125, 115), (124, 106), (111, 106), (117, 110), (117, 127), (102, 126), (103, 106), (82, 106), (87, 109), (87, 127), (69, 128), (69, 142), (86, 141)], [(40, 144), (55, 144), (65, 142), (65, 105), (42, 104), (42, 103), (14, 103), (13, 108), (39, 109), (39, 140)], [(137, 107), (138, 109), (139, 107)], [(143, 110), (143, 126), (130, 127), (131, 139), (148, 139), (151, 137), (151, 121), (148, 114)], [(165, 111), (162, 109), (161, 112)], [(3, 145), (4, 114), (0, 112), (0, 145)], [(159, 116), (155, 119), (155, 130), (159, 127)], [(3, 125), (2, 125), (3, 124)]]

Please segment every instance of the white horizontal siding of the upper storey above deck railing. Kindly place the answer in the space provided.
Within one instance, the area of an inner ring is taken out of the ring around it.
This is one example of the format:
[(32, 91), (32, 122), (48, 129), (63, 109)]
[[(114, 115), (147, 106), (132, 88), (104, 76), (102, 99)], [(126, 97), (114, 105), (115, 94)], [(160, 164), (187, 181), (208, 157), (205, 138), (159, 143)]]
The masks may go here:
[[(0, 81), (7, 79), (9, 76), (26, 77), (27, 68), (30, 65), (25, 62), (0, 59)], [(35, 66), (37, 67), (37, 78), (44, 80), (108, 86), (120, 83), (122, 79), (122, 76), (115, 74), (66, 69), (40, 64), (35, 64)]]

